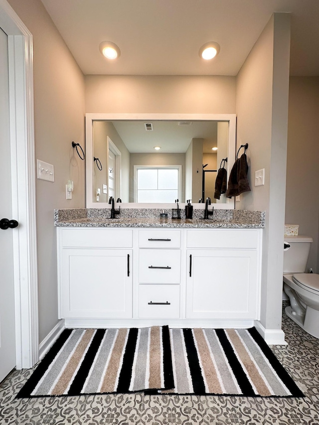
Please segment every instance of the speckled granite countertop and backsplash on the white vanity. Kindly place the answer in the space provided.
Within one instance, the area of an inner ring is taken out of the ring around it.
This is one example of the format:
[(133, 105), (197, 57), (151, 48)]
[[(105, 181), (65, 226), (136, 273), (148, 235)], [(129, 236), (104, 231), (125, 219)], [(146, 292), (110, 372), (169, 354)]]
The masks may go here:
[[(210, 209), (210, 208), (209, 208)], [(265, 227), (264, 211), (214, 210), (213, 217), (202, 220), (204, 211), (193, 210), (193, 218), (185, 219), (180, 210), (180, 220), (171, 218), (172, 210), (165, 210), (167, 219), (160, 219), (162, 209), (122, 208), (115, 219), (110, 219), (109, 208), (78, 208), (54, 210), (54, 225), (64, 227), (197, 227), (197, 228), (262, 228)]]

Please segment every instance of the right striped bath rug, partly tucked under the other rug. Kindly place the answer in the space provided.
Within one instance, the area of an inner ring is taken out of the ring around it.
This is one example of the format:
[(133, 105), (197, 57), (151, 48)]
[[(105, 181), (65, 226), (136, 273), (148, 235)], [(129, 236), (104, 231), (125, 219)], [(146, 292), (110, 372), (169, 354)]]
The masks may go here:
[(255, 328), (170, 329), (171, 394), (304, 397)]

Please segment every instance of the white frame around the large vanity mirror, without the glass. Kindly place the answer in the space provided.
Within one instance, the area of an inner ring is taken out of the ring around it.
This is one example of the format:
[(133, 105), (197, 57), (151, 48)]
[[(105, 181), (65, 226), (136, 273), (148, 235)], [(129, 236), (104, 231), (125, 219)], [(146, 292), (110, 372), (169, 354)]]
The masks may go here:
[[(235, 162), (236, 154), (236, 114), (85, 114), (85, 151), (86, 151), (86, 208), (110, 208), (106, 202), (93, 202), (93, 121), (226, 121), (228, 129), (228, 174)], [(88, 160), (92, 158), (92, 160)], [(181, 203), (180, 207), (186, 204)], [(194, 203), (194, 208), (202, 209), (205, 203)], [(122, 208), (174, 208), (174, 203), (133, 203), (123, 202)], [(227, 198), (227, 203), (216, 203), (217, 209), (234, 209), (235, 198)]]

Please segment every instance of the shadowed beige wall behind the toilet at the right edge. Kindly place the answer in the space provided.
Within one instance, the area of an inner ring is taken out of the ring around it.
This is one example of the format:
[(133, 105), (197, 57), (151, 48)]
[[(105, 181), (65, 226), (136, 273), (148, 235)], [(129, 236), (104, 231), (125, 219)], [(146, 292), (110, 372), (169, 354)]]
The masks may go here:
[(311, 236), (307, 268), (319, 272), (319, 77), (290, 77), (286, 216)]

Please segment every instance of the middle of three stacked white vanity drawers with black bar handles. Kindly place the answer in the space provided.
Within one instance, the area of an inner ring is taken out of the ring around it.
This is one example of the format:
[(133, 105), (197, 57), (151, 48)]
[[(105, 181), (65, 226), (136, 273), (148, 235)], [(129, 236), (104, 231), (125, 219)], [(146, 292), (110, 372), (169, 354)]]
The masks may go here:
[(140, 250), (139, 283), (179, 283), (180, 250)]

